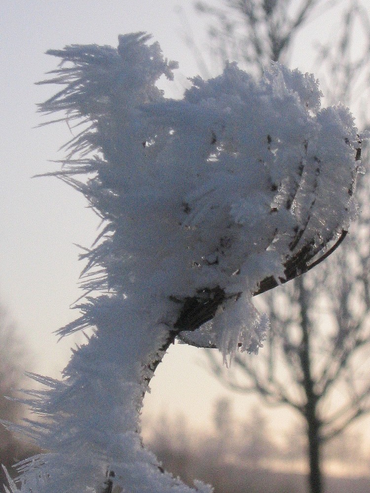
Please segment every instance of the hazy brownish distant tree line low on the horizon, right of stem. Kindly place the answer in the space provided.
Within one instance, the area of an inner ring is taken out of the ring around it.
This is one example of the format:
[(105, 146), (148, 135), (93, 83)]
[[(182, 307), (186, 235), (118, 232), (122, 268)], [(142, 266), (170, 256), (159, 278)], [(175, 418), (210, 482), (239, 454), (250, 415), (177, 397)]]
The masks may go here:
[[(194, 430), (184, 416), (166, 415), (144, 421), (143, 428), (148, 447), (188, 485), (201, 479), (211, 483), (215, 493), (306, 492), (304, 433), (293, 429), (281, 445), (260, 406), (251, 407), (245, 419), (239, 420), (230, 401), (222, 398), (215, 403), (211, 430)], [(359, 437), (345, 434), (340, 444), (334, 441), (325, 450), (324, 465), (329, 462), (346, 464), (347, 472), (351, 467), (366, 471), (369, 457)], [(327, 491), (357, 492), (360, 485), (368, 491), (370, 478), (328, 475)]]

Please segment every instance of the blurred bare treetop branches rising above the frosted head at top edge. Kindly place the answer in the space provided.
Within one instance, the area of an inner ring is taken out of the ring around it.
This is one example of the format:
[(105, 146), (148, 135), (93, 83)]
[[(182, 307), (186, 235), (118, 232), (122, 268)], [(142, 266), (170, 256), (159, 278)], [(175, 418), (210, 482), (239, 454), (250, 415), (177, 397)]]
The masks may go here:
[[(242, 61), (255, 73), (273, 61), (289, 62), (294, 40), (307, 22), (343, 0), (222, 0), (220, 6), (195, 2), (211, 19), (209, 46), (214, 58)], [(189, 44), (193, 40), (187, 37)]]

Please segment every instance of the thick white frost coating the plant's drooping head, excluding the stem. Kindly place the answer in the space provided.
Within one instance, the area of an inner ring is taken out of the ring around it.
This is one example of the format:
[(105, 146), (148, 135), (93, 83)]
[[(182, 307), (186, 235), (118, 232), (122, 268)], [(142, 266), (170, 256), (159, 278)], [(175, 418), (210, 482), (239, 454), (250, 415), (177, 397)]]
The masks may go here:
[[(290, 250), (319, 249), (347, 227), (352, 116), (320, 109), (314, 77), (280, 65), (256, 83), (227, 64), (214, 79), (192, 79), (182, 100), (166, 99), (155, 83), (172, 79), (177, 64), (147, 41), (125, 35), (117, 50), (50, 52), (72, 67), (56, 71), (67, 87), (41, 110), (90, 124), (61, 176), (107, 221), (86, 255), (101, 276), (86, 287), (135, 286), (167, 299), (216, 286), (252, 293), (262, 279), (283, 279)], [(92, 176), (87, 185), (74, 181), (78, 173)], [(218, 338), (224, 355), (235, 350), (228, 340)]]

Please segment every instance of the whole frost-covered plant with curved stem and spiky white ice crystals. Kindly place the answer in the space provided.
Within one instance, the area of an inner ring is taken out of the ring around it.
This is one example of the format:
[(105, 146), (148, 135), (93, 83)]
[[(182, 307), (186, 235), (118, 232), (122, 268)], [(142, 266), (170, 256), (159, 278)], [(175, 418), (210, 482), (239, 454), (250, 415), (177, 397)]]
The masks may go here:
[(105, 227), (82, 255), (90, 296), (81, 317), (59, 331), (94, 334), (62, 381), (34, 376), (46, 390), (29, 404), (44, 420), (28, 432), (47, 452), (19, 466), (20, 490), (210, 492), (163, 472), (142, 446), (143, 395), (181, 333), (225, 358), (258, 351), (267, 322), (252, 295), (303, 272), (347, 229), (359, 152), (352, 117), (320, 109), (313, 76), (279, 65), (256, 83), (227, 64), (166, 99), (155, 84), (177, 64), (143, 34), (120, 36), (117, 49), (49, 53), (62, 63), (44, 83), (62, 88), (40, 110), (83, 122), (53, 175)]

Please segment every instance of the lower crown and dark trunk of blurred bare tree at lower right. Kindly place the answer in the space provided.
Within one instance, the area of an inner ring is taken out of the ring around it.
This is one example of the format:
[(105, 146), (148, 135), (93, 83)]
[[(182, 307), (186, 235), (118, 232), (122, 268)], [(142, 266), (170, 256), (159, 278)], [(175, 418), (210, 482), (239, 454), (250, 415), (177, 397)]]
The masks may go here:
[(272, 330), (258, 357), (239, 354), (231, 371), (224, 371), (210, 355), (215, 374), (228, 387), (257, 391), (267, 404), (299, 413), (306, 423), (315, 493), (322, 491), (323, 446), (370, 412), (368, 280), (345, 266), (352, 262), (352, 252), (347, 253), (343, 258), (342, 249), (319, 274), (269, 295)]

